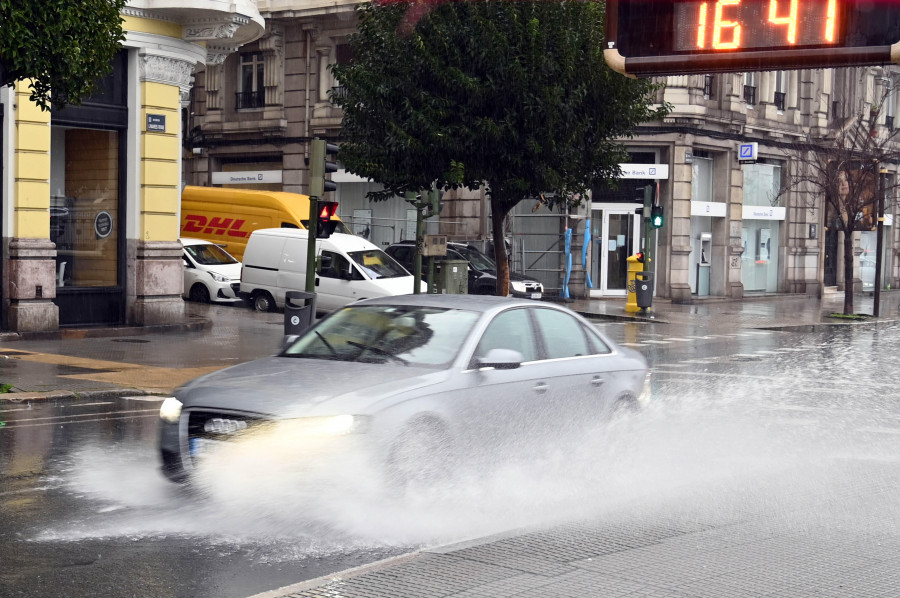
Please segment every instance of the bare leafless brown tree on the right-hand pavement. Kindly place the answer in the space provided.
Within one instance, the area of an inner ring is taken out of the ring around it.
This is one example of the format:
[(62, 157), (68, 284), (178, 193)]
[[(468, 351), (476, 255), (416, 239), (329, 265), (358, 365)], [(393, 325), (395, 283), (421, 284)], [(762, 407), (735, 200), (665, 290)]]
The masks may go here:
[[(900, 129), (879, 124), (891, 99), (892, 83), (886, 81), (875, 87), (872, 102), (827, 134), (808, 134), (803, 143), (788, 149), (791, 172), (779, 194), (799, 191), (801, 204), (811, 212), (824, 209), (826, 233), (836, 231), (842, 239), (844, 315), (854, 313), (854, 233), (877, 229), (879, 217), (890, 208), (885, 203), (892, 201), (898, 186), (896, 177), (887, 174), (889, 165), (900, 164)], [(878, 250), (876, 273), (881, 269), (881, 247)], [(879, 278), (876, 274), (876, 282)]]

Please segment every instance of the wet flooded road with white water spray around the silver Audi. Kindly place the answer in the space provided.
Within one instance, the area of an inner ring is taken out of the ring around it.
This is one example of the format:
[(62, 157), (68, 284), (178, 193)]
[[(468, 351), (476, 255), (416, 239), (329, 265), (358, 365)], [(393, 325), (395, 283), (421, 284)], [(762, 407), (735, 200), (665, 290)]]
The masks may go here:
[[(603, 328), (648, 356), (654, 407), (584, 454), (562, 456), (552, 476), (529, 467), (540, 487), (506, 471), (485, 482), (498, 486), (488, 499), (457, 489), (432, 509), (397, 512), (354, 502), (352, 486), (337, 495), (279, 488), (277, 480), (260, 496), (228, 472), (226, 492), (191, 495), (157, 471), (157, 399), (7, 404), (0, 595), (249, 596), (419, 546), (559, 519), (565, 505), (586, 501), (652, 499), (671, 512), (749, 496), (760, 499), (753, 509), (778, 517), (839, 515), (853, 525), (866, 505), (840, 504), (831, 492), (860, 476), (887, 492), (896, 487), (881, 476), (897, 470), (900, 455), (898, 327), (719, 335)], [(602, 483), (586, 482), (591, 476)], [(558, 502), (563, 489), (569, 502)], [(646, 517), (655, 516), (666, 513), (656, 505)]]

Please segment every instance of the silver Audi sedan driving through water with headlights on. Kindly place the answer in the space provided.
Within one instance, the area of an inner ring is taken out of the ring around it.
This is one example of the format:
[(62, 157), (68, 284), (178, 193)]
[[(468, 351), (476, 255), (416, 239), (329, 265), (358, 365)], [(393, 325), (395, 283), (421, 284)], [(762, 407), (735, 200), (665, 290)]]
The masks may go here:
[(160, 408), (159, 448), (163, 472), (182, 481), (209, 451), (265, 442), (282, 425), (316, 447), (315, 457), (280, 451), (298, 468), (304, 456), (321, 466), (323, 450), (353, 446), (385, 479), (408, 482), (508, 447), (594, 434), (648, 399), (644, 358), (563, 306), (403, 295), (350, 304), (276, 356), (182, 386)]

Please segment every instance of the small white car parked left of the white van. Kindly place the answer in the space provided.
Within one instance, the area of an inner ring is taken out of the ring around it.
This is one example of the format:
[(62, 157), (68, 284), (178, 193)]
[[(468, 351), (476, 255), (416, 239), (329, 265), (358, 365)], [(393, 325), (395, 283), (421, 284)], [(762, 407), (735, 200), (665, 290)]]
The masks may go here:
[(209, 241), (179, 239), (184, 260), (184, 291), (191, 301), (240, 303), (241, 263)]

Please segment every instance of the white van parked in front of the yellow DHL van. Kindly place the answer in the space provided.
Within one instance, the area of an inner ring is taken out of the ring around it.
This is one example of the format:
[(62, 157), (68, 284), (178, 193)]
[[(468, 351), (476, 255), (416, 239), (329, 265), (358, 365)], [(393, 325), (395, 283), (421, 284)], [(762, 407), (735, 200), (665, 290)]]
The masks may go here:
[[(306, 290), (307, 231), (255, 230), (247, 241), (241, 296), (257, 311), (284, 307), (287, 291)], [(316, 239), (316, 311), (333, 311), (359, 299), (406, 295), (413, 276), (373, 243), (335, 233)], [(427, 285), (422, 283), (422, 292)]]

